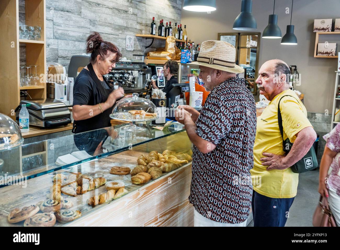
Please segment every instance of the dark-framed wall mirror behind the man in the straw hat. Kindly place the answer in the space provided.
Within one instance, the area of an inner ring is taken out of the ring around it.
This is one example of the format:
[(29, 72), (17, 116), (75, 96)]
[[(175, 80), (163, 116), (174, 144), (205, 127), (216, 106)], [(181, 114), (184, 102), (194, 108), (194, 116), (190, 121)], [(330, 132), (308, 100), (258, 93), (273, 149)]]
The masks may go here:
[(236, 64), (244, 68), (245, 84), (256, 95), (260, 33), (218, 33), (218, 39), (236, 48)]

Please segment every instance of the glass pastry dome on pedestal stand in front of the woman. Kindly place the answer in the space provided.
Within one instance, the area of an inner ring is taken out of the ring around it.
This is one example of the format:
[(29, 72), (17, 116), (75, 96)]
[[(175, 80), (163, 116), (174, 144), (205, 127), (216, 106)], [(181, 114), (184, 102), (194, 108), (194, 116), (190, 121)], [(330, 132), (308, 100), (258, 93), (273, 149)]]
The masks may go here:
[(133, 93), (132, 97), (121, 99), (116, 103), (110, 117), (121, 121), (132, 121), (132, 125), (124, 127), (124, 130), (142, 131), (145, 128), (137, 127), (136, 122), (156, 120), (158, 112), (152, 101)]

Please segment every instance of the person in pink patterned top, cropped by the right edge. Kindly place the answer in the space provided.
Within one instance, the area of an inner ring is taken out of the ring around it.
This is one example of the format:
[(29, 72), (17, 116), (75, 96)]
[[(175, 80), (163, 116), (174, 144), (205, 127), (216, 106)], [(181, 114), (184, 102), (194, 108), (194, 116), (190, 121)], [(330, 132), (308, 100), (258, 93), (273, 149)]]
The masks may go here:
[(323, 138), (326, 141), (319, 172), (319, 193), (328, 198), (329, 209), (340, 226), (340, 123)]

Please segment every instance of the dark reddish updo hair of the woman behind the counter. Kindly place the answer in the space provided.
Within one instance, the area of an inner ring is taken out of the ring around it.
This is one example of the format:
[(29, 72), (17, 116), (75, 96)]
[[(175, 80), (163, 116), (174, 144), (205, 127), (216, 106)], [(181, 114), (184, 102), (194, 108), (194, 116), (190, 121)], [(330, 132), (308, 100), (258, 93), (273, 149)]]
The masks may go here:
[(108, 52), (117, 53), (116, 62), (118, 62), (122, 54), (113, 43), (104, 41), (98, 32), (92, 32), (86, 39), (86, 53), (91, 53), (91, 63), (95, 63), (97, 56), (100, 55), (102, 60), (108, 56)]

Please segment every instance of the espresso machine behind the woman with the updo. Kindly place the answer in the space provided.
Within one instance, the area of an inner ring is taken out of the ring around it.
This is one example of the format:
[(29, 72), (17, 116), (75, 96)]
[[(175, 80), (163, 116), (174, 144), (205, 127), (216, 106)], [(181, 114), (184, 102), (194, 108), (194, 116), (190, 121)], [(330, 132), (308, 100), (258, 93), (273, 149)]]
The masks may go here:
[(149, 88), (147, 80), (150, 80), (151, 71), (148, 71), (150, 69), (144, 62), (132, 59), (117, 62), (116, 67), (104, 77), (114, 86), (122, 87), (124, 93), (138, 93)]

